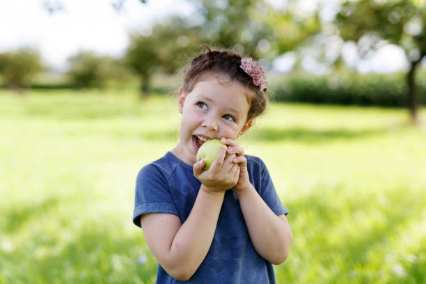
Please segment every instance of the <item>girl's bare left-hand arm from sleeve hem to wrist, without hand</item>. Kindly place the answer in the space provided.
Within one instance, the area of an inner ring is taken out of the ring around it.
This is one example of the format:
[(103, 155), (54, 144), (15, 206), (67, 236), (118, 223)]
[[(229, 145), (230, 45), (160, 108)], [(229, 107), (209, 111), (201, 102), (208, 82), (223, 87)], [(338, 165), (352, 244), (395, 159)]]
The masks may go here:
[(143, 235), (161, 267), (173, 278), (187, 281), (203, 262), (212, 244), (223, 192), (201, 186), (191, 213), (182, 224), (173, 214), (141, 216)]

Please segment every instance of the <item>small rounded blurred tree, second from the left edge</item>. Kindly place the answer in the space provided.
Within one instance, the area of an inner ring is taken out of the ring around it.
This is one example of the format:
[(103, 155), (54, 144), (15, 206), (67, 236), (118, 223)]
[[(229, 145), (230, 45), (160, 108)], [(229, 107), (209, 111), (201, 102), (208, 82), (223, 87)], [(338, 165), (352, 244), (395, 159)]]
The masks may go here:
[(68, 77), (79, 88), (104, 88), (125, 72), (120, 63), (109, 56), (98, 56), (93, 52), (79, 52), (71, 56)]

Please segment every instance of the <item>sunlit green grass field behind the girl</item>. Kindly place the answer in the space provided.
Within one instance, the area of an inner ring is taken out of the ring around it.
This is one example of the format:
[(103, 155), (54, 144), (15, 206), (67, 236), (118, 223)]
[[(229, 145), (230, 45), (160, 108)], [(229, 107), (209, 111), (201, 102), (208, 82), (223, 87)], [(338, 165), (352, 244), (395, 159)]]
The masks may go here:
[[(153, 283), (134, 181), (179, 119), (174, 97), (0, 91), (0, 283)], [(277, 283), (426, 282), (426, 132), (407, 120), (271, 104), (242, 137), (290, 210)]]

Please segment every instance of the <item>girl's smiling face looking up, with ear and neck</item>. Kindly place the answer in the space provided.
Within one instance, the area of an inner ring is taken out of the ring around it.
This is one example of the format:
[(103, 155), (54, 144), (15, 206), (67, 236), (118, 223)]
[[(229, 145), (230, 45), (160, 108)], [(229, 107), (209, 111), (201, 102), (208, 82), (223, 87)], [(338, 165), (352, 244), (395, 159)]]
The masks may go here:
[(248, 90), (219, 74), (198, 81), (190, 93), (179, 92), (180, 142), (173, 154), (187, 164), (196, 162), (198, 148), (208, 139), (237, 139), (251, 127), (247, 120)]

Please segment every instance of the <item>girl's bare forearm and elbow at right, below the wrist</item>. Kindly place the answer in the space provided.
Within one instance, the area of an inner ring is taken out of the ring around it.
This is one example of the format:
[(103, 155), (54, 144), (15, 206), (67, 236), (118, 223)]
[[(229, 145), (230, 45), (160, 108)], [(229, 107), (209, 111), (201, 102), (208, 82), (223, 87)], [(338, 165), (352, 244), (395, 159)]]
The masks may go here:
[(255, 250), (274, 265), (284, 262), (292, 242), (292, 230), (285, 215), (276, 216), (251, 184), (235, 194)]

